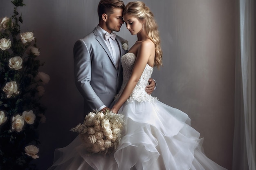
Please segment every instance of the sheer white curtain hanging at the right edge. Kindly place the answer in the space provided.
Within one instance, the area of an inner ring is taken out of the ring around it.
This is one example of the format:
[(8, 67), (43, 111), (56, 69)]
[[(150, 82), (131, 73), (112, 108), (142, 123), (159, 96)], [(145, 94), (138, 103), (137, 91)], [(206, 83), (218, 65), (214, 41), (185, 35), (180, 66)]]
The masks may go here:
[(255, 0), (237, 0), (233, 170), (256, 170)]

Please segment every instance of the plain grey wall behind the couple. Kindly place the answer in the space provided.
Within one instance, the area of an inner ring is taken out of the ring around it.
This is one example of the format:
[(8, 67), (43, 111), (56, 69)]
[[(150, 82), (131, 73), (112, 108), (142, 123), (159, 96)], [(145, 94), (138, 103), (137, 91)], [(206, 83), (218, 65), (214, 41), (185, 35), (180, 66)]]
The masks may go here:
[[(83, 120), (83, 99), (74, 84), (74, 42), (98, 24), (99, 0), (24, 0), (21, 31), (33, 31), (41, 68), (50, 75), (42, 102), (47, 122), (40, 125), (39, 170), (52, 164), (55, 148), (69, 144), (70, 128)], [(124, 0), (125, 4), (129, 2)], [(231, 170), (234, 130), (235, 7), (233, 0), (144, 0), (159, 25), (164, 67), (153, 78), (160, 101), (189, 115), (204, 137), (204, 152)], [(1, 0), (0, 17), (11, 16)], [(125, 24), (118, 33), (129, 41)]]

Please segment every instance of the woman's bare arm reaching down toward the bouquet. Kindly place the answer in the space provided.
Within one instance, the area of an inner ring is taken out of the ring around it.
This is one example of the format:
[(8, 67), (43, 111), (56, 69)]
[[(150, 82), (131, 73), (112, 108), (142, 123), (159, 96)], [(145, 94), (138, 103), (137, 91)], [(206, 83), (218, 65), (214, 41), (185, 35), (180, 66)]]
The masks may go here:
[(121, 106), (126, 102), (126, 100), (130, 97), (133, 89), (135, 88), (139, 78), (141, 77), (146, 64), (150, 56), (152, 56), (152, 51), (148, 49), (155, 49), (153, 42), (151, 41), (144, 41), (141, 43), (140, 47), (138, 48), (137, 57), (132, 68), (131, 77), (126, 84), (123, 93), (121, 94), (120, 98), (118, 99), (117, 103), (112, 107), (112, 112), (117, 113)]

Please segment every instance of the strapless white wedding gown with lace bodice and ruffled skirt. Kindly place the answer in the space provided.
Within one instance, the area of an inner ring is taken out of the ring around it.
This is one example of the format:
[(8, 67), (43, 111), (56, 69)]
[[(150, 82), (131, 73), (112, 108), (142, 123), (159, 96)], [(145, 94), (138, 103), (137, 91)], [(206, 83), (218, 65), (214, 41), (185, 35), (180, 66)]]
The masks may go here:
[[(135, 54), (122, 56), (124, 90)], [(146, 65), (129, 99), (120, 108), (126, 126), (117, 150), (106, 157), (87, 155), (79, 137), (55, 150), (49, 170), (225, 170), (202, 151), (200, 133), (190, 126), (190, 118), (181, 110), (167, 106), (148, 95), (145, 87), (153, 68)]]

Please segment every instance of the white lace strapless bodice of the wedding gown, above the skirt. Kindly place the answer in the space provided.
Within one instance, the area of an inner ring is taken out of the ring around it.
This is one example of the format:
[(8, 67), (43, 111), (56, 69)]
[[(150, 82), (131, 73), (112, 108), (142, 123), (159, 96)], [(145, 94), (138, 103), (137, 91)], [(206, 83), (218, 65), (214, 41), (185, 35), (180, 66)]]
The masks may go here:
[[(123, 84), (121, 86), (121, 90), (119, 93), (115, 96), (115, 100), (119, 99), (122, 92), (124, 91), (124, 87), (126, 86), (128, 80), (130, 79), (130, 75), (132, 73), (132, 68), (134, 65), (136, 59), (136, 55), (134, 53), (126, 53), (121, 57), (121, 64), (123, 66)], [(150, 79), (153, 72), (153, 67), (146, 64), (146, 67), (139, 79), (139, 82), (135, 86), (134, 90), (132, 91), (132, 94), (127, 99), (128, 102), (132, 102), (134, 100), (138, 102), (144, 102), (144, 101), (155, 101), (157, 100), (157, 97), (153, 97), (151, 95), (148, 95), (146, 92), (146, 86), (148, 85), (148, 79)]]

